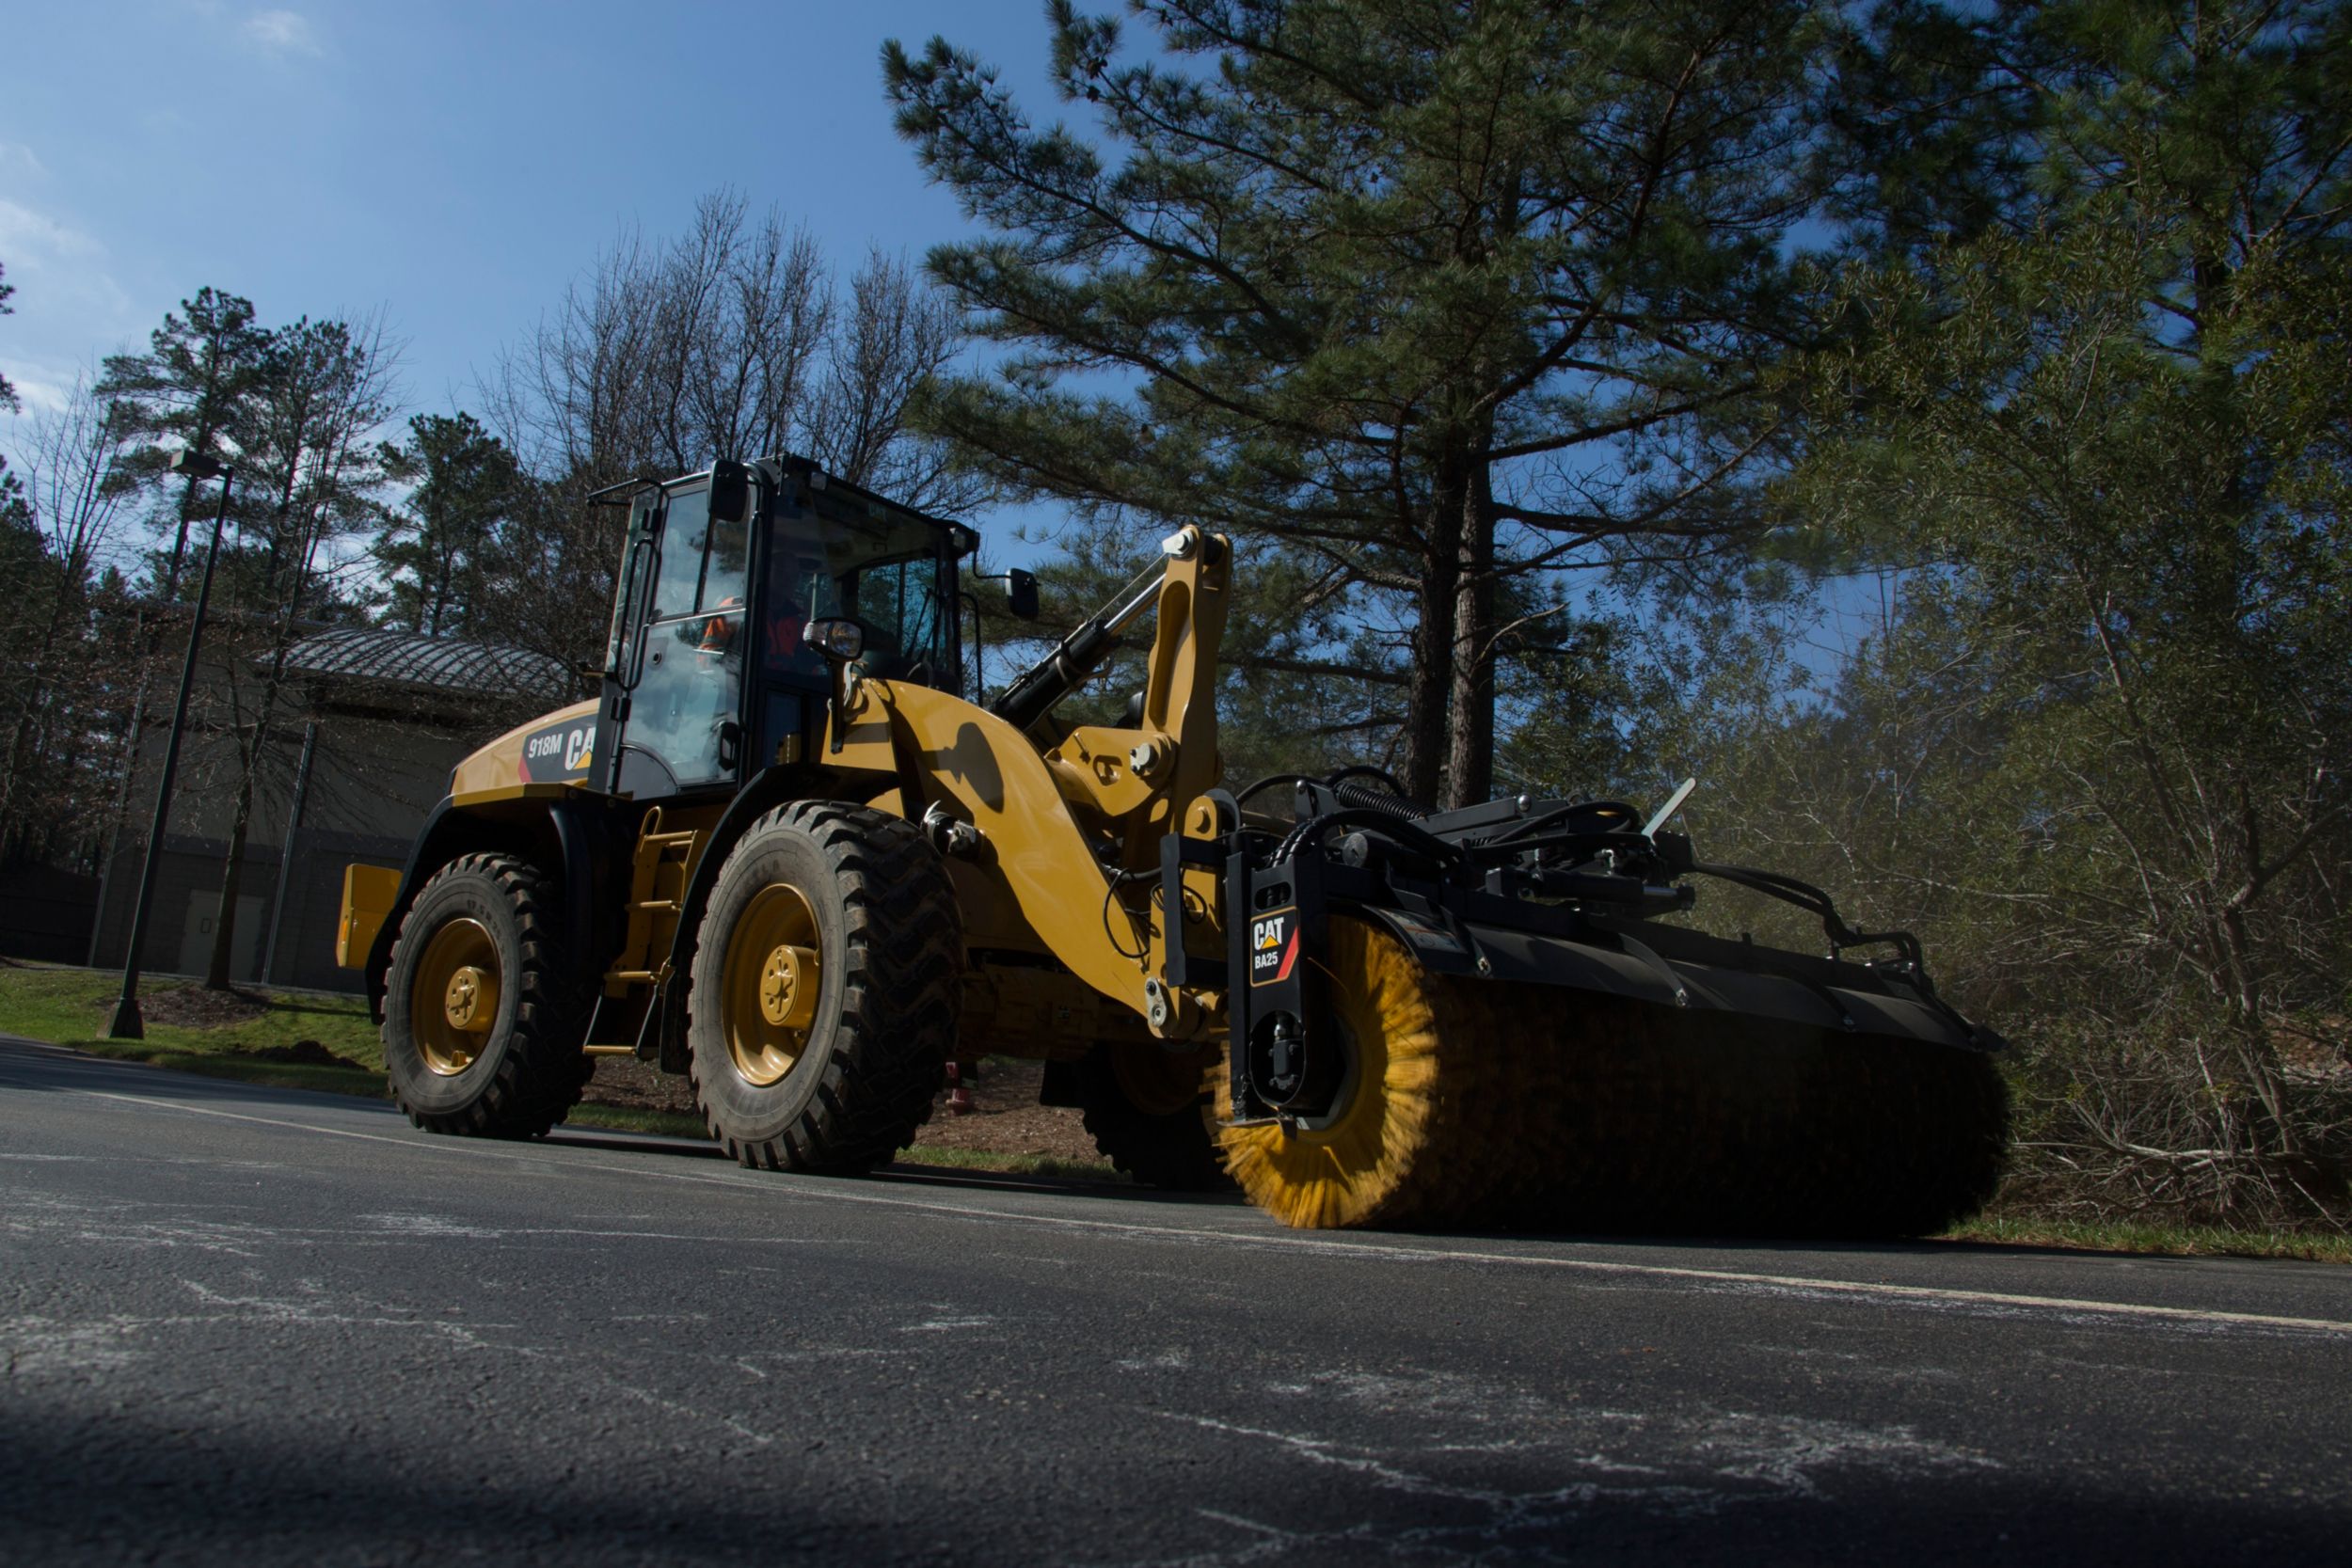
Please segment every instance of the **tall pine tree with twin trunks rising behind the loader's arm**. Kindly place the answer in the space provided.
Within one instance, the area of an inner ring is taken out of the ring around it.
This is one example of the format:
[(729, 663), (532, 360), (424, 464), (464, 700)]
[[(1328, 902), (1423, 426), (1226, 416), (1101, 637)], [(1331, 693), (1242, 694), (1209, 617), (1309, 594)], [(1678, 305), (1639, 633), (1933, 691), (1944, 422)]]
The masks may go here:
[(1049, 9), (1103, 143), (887, 45), (901, 132), (995, 230), (931, 273), (1009, 350), (922, 421), (1014, 494), (1296, 557), (1357, 649), (1291, 661), (1395, 682), (1406, 785), (1484, 797), (1496, 661), (1569, 642), (1545, 576), (1745, 527), (1729, 416), (1790, 331), (1811, 7), (1136, 9), (1148, 63)]

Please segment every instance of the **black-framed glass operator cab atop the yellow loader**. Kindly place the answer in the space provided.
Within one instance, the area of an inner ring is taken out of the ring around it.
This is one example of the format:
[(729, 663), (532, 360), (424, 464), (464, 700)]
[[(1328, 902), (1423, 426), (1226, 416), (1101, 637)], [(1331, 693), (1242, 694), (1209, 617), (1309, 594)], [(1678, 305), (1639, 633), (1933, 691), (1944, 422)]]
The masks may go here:
[(804, 644), (811, 618), (858, 621), (866, 675), (960, 691), (955, 562), (976, 543), (802, 458), (642, 487), (604, 649), (597, 783), (724, 797), (814, 757), (830, 672)]

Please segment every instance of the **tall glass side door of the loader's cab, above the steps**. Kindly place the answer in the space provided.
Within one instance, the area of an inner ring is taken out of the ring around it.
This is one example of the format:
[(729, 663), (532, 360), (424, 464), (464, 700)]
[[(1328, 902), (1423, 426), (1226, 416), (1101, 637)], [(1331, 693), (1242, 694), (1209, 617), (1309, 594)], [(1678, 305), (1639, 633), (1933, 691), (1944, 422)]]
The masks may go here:
[(731, 792), (743, 766), (743, 597), (757, 508), (741, 480), (731, 496), (720, 491), (717, 517), (710, 475), (647, 494), (633, 512), (607, 701), (619, 733), (607, 745), (614, 790), (635, 799)]

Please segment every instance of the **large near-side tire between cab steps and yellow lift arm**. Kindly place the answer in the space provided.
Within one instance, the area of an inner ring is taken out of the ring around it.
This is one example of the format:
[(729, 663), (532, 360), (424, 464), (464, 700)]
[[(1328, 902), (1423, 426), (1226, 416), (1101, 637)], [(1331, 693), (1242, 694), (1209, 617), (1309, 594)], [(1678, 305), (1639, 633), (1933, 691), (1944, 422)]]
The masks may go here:
[(910, 823), (837, 802), (762, 816), (694, 943), (687, 1041), (710, 1135), (762, 1171), (889, 1164), (955, 1053), (962, 959), (948, 867)]

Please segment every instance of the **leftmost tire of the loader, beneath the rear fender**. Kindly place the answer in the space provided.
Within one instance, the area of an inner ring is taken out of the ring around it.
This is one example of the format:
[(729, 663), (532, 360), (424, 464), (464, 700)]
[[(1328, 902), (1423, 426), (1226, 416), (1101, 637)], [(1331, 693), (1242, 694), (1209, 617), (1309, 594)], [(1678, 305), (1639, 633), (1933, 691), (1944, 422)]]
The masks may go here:
[(581, 1098), (588, 983), (555, 936), (553, 882), (461, 856), (400, 919), (383, 990), (393, 1103), (428, 1133), (536, 1138)]

